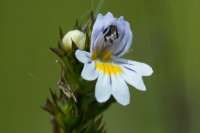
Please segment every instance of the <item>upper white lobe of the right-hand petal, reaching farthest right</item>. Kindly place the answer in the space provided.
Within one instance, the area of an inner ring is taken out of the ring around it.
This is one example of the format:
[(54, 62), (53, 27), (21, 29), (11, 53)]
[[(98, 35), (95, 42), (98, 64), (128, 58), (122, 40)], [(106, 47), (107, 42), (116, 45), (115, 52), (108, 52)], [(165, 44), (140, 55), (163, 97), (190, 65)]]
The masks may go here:
[(131, 69), (138, 70), (141, 76), (150, 76), (153, 73), (152, 68), (145, 64), (138, 61), (131, 61), (122, 58), (115, 58), (116, 62), (120, 63), (122, 66), (130, 67)]

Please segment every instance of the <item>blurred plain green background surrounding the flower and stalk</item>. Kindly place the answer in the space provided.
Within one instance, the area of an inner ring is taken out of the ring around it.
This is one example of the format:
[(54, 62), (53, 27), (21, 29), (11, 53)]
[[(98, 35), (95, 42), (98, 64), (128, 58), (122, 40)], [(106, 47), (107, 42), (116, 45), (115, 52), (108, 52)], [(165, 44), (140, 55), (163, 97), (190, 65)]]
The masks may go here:
[[(49, 47), (57, 45), (58, 26), (71, 30), (91, 8), (91, 0), (0, 1), (0, 133), (51, 132), (40, 105), (60, 68)], [(154, 69), (146, 92), (130, 88), (130, 105), (105, 112), (108, 133), (199, 133), (200, 1), (105, 0), (100, 12), (108, 11), (134, 32), (125, 57)]]

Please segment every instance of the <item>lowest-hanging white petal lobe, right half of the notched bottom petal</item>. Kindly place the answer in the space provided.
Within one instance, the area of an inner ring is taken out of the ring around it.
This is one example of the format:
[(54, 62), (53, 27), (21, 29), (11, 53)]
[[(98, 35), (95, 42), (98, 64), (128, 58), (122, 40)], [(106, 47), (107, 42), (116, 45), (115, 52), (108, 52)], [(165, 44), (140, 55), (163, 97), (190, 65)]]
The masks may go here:
[(112, 95), (118, 103), (128, 105), (130, 102), (130, 93), (127, 84), (119, 75), (112, 75)]

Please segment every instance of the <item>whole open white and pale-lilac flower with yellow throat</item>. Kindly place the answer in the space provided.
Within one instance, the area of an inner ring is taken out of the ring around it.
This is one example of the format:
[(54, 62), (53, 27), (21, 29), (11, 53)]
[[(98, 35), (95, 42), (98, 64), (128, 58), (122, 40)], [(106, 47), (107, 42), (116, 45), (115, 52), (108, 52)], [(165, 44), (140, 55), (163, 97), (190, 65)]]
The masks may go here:
[(77, 50), (76, 58), (84, 63), (81, 76), (85, 80), (97, 79), (95, 97), (98, 102), (106, 102), (112, 95), (122, 105), (130, 102), (126, 83), (145, 91), (142, 76), (150, 76), (152, 68), (144, 63), (120, 58), (132, 43), (130, 25), (123, 17), (114, 18), (108, 12), (98, 14), (94, 23), (90, 53)]

